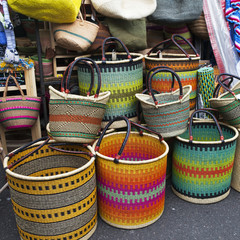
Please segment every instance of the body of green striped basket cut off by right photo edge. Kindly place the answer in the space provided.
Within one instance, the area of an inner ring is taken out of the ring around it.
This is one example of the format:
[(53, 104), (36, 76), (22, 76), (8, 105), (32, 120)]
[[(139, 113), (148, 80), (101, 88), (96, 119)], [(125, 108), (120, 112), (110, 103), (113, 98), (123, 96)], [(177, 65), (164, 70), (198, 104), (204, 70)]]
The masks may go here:
[[(240, 88), (236, 88), (233, 92), (235, 95), (240, 94)], [(209, 101), (211, 107), (219, 111), (224, 121), (236, 128), (240, 127), (240, 101), (236, 100), (231, 93), (224, 93)]]

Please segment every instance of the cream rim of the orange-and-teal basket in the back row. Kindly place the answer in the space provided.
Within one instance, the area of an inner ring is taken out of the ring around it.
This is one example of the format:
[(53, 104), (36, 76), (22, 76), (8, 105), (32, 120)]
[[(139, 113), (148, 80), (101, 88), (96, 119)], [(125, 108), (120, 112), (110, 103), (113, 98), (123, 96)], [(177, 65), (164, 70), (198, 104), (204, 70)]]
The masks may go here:
[[(144, 55), (144, 58), (148, 61), (169, 61), (169, 62), (175, 62), (175, 61), (196, 61), (196, 60), (200, 60), (200, 56), (196, 57), (195, 54), (189, 54), (189, 56), (191, 57), (191, 60), (189, 60), (188, 57), (186, 57), (185, 54), (181, 54), (181, 53), (162, 53), (162, 58), (156, 57), (157, 53), (151, 53), (149, 56), (146, 54)], [(173, 56), (173, 58), (168, 58), (169, 56)], [(165, 58), (164, 58), (165, 57)]]

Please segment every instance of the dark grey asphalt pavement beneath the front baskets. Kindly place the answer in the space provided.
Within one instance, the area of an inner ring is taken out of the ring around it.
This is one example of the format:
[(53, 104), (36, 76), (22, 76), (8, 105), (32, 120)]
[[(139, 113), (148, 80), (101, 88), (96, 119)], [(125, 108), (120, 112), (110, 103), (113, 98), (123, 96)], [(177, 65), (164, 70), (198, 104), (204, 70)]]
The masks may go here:
[[(6, 183), (0, 164), (0, 188)], [(19, 240), (9, 189), (0, 193), (0, 240)], [(101, 218), (91, 240), (239, 240), (240, 193), (231, 189), (218, 203), (200, 205), (178, 198), (167, 180), (163, 215), (142, 229), (112, 227)], [(43, 239), (45, 240), (45, 239)]]

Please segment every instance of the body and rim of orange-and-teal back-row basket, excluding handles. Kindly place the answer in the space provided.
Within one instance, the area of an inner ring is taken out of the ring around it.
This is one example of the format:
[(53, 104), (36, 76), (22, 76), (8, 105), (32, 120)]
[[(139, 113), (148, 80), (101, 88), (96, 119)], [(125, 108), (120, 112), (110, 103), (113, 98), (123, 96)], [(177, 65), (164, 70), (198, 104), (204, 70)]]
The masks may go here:
[[(145, 57), (145, 64), (147, 70), (157, 66), (170, 67), (180, 77), (182, 86), (191, 85), (192, 92), (190, 94), (190, 109), (192, 110), (196, 106), (197, 70), (199, 66), (199, 59), (199, 57), (194, 57), (194, 59), (189, 61), (189, 59), (182, 54), (172, 54), (172, 56), (170, 54), (166, 54), (163, 55), (163, 58), (158, 58), (156, 54), (151, 54), (149, 57)], [(153, 89), (158, 90), (159, 92), (169, 92), (171, 83), (170, 73), (157, 73), (152, 79)]]

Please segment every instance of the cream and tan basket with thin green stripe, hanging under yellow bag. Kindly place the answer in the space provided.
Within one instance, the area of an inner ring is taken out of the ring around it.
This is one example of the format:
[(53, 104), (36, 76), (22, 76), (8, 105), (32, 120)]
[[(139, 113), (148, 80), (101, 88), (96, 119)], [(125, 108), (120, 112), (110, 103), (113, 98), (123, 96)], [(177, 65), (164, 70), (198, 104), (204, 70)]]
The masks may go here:
[(83, 19), (81, 13), (73, 23), (54, 23), (56, 43), (66, 49), (85, 52), (94, 42), (99, 26)]

